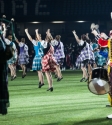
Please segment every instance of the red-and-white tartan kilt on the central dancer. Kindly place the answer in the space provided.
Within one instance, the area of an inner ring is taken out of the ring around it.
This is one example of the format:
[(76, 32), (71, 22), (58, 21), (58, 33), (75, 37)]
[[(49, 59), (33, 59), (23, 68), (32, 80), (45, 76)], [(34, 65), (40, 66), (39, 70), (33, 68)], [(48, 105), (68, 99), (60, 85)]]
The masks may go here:
[(46, 54), (42, 58), (42, 71), (54, 72), (56, 70), (55, 65), (59, 65), (52, 54)]

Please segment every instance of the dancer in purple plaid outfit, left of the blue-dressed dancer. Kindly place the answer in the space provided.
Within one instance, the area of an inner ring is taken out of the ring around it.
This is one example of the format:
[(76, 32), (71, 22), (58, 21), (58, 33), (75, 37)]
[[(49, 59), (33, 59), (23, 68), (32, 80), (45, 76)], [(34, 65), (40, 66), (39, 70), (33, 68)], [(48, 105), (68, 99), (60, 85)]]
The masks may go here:
[(15, 41), (18, 43), (20, 47), (18, 64), (21, 66), (21, 69), (23, 70), (22, 78), (24, 78), (26, 76), (26, 65), (29, 63), (28, 46), (25, 44), (25, 38), (21, 38), (21, 42), (19, 42), (15, 34), (13, 35)]

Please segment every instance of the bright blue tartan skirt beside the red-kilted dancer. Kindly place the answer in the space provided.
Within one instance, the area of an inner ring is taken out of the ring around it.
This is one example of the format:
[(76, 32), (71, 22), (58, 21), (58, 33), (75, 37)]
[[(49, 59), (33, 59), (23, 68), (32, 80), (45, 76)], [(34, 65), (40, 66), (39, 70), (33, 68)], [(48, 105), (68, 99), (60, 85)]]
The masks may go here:
[(35, 56), (33, 59), (32, 70), (40, 71), (42, 69), (41, 56)]

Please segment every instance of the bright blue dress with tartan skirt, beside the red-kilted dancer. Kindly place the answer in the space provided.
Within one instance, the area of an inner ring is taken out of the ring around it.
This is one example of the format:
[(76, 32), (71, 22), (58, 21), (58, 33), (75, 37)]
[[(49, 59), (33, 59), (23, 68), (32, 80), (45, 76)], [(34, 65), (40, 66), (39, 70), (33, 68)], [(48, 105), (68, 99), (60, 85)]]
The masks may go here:
[(35, 50), (35, 57), (33, 59), (32, 70), (40, 71), (42, 69), (41, 60), (43, 56), (43, 50), (40, 42), (38, 42), (36, 46), (34, 45), (34, 50)]

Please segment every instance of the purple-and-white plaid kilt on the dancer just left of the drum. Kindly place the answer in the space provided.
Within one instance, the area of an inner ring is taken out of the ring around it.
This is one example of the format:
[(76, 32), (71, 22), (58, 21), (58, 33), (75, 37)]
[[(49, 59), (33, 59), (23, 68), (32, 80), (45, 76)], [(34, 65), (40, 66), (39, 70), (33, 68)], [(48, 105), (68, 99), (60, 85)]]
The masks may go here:
[(85, 60), (92, 60), (90, 62), (93, 62), (95, 60), (94, 53), (92, 52), (90, 47), (88, 51), (88, 46), (85, 46), (81, 51), (80, 55), (77, 57), (76, 66), (80, 67), (81, 63), (83, 63)]

